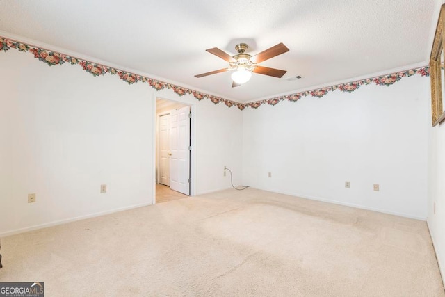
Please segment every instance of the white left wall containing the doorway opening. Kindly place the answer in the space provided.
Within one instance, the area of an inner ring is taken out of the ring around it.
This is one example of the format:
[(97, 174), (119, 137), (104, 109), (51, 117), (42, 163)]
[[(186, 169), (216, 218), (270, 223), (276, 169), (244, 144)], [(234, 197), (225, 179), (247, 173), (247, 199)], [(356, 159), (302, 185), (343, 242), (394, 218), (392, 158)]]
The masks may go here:
[(193, 103), (195, 193), (229, 188), (224, 165), (241, 180), (236, 107), (49, 67), (14, 49), (0, 53), (0, 65), (0, 236), (151, 204), (157, 95)]

